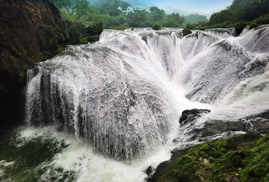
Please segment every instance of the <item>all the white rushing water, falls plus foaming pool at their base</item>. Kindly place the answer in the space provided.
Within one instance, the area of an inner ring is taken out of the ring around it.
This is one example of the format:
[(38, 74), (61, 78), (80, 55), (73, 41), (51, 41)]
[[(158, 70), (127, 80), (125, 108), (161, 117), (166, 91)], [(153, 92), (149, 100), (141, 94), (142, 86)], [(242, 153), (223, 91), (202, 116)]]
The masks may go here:
[[(69, 146), (40, 164), (39, 180), (142, 181), (142, 171), (168, 160), (174, 148), (245, 131), (205, 135), (209, 125), (253, 128), (247, 116), (269, 109), (269, 26), (234, 35), (104, 30), (99, 42), (38, 63), (28, 71), (26, 122), (41, 127), (28, 126), (19, 138), (50, 133)], [(183, 110), (197, 107), (211, 112), (179, 124)]]

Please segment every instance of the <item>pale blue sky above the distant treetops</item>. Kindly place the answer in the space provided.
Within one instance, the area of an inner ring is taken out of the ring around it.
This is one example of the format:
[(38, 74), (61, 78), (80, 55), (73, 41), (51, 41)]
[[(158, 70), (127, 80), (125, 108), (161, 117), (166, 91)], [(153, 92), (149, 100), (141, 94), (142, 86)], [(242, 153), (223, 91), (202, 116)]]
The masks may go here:
[(185, 12), (212, 13), (230, 6), (233, 0), (140, 0), (149, 6), (155, 5), (166, 12), (177, 10)]

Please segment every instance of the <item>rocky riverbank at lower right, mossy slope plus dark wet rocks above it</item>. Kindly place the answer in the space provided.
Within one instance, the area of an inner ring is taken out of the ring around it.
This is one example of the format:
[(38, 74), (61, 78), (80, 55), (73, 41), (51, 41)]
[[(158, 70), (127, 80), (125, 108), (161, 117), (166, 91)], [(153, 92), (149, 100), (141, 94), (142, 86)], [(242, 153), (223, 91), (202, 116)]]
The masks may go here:
[[(210, 111), (184, 111), (180, 122), (192, 122), (203, 112)], [(159, 164), (147, 181), (268, 181), (269, 133), (263, 134), (268, 132), (268, 116), (268, 112), (263, 112), (244, 118), (253, 123), (246, 134), (173, 151), (171, 160)], [(197, 131), (197, 135), (245, 127), (239, 121), (232, 126), (223, 121), (217, 123), (205, 125), (207, 129)]]

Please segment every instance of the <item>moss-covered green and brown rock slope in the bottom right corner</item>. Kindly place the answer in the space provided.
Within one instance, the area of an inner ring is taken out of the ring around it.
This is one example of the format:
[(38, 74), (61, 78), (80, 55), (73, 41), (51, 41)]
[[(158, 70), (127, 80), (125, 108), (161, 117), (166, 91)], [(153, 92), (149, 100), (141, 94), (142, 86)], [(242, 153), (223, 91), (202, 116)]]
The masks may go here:
[(193, 146), (157, 181), (268, 181), (269, 133), (258, 141), (257, 136), (247, 133)]

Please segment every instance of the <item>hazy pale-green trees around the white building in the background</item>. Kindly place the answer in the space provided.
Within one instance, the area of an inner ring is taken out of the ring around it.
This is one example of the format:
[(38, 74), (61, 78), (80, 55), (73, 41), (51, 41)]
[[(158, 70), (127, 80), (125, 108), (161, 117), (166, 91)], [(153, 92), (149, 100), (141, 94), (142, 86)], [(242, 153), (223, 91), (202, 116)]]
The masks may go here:
[(150, 7), (150, 13), (144, 10), (122, 15), (118, 7), (126, 9), (130, 5), (122, 0), (99, 0), (93, 4), (86, 0), (51, 0), (61, 11), (65, 20), (80, 22), (85, 26), (102, 22), (104, 29), (125, 29), (131, 27), (152, 27), (158, 23), (162, 27), (182, 27), (185, 22), (207, 22), (205, 16), (192, 14), (181, 16), (179, 13), (167, 14), (157, 7)]

